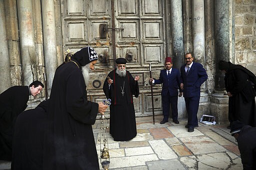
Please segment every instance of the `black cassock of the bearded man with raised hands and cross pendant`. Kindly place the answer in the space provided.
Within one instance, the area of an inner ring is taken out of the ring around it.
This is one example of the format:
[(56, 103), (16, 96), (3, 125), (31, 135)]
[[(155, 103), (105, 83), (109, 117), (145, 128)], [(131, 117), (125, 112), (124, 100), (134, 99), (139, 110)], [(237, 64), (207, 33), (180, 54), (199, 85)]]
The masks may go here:
[(137, 135), (132, 95), (139, 95), (138, 82), (128, 71), (125, 77), (118, 76), (115, 71), (107, 75), (113, 80), (110, 88), (107, 79), (103, 85), (106, 98), (111, 99), (109, 133), (114, 141), (128, 141)]

